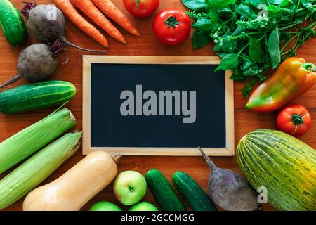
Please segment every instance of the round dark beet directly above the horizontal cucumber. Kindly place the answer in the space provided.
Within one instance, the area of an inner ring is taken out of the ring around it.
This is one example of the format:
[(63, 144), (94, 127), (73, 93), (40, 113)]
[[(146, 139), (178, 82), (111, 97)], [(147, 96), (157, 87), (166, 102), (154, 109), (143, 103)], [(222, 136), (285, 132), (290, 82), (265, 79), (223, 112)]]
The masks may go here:
[(18, 58), (18, 75), (2, 84), (0, 88), (13, 84), (23, 78), (28, 82), (41, 82), (51, 77), (57, 68), (56, 55), (65, 50), (65, 44), (55, 41), (54, 44), (32, 44), (22, 50)]

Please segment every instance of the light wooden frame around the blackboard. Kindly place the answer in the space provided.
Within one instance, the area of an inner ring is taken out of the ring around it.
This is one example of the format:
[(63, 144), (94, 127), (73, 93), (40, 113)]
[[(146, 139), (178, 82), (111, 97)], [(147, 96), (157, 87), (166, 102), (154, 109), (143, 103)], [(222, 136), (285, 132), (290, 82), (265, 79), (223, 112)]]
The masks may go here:
[[(95, 150), (106, 150), (108, 153), (121, 155), (200, 155), (197, 148), (112, 148), (91, 146), (91, 63), (111, 64), (191, 64), (219, 65), (216, 56), (83, 56), (83, 154)], [(234, 86), (230, 79), (231, 72), (225, 71), (225, 118), (226, 147), (204, 148), (206, 154), (213, 156), (235, 155), (234, 134)]]

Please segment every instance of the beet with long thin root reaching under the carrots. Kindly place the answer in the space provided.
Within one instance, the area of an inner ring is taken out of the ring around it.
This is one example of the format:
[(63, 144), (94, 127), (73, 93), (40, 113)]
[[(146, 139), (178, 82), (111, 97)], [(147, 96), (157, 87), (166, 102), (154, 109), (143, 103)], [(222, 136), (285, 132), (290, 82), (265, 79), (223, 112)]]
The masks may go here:
[(82, 51), (96, 53), (107, 52), (85, 49), (68, 41), (65, 38), (65, 17), (62, 14), (62, 11), (53, 4), (37, 5), (34, 3), (27, 3), (25, 8), (22, 9), (22, 14), (27, 18), (25, 23), (27, 30), (39, 41), (48, 43), (60, 39), (65, 44)]

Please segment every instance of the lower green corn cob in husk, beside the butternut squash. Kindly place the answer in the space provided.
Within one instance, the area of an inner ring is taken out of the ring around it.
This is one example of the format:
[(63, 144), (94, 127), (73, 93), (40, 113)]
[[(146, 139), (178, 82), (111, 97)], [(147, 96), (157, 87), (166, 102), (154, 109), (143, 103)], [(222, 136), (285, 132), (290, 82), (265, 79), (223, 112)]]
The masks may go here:
[(81, 132), (65, 134), (0, 180), (0, 210), (39, 186), (78, 150)]

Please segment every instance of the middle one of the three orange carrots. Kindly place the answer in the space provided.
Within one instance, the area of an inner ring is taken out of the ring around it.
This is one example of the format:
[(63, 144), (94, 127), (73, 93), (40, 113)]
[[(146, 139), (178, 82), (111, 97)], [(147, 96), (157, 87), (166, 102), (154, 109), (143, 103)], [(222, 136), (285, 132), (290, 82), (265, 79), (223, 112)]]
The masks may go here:
[(99, 11), (99, 9), (92, 3), (90, 0), (72, 0), (72, 4), (77, 6), (88, 18), (91, 18), (94, 23), (100, 26), (107, 34), (109, 34), (117, 41), (121, 41), (126, 44), (123, 34), (117, 30), (117, 27), (114, 27), (112, 23), (107, 20), (105, 15)]

